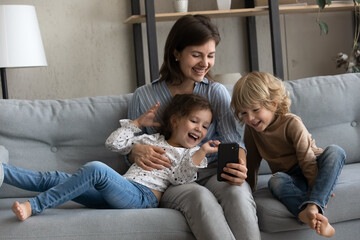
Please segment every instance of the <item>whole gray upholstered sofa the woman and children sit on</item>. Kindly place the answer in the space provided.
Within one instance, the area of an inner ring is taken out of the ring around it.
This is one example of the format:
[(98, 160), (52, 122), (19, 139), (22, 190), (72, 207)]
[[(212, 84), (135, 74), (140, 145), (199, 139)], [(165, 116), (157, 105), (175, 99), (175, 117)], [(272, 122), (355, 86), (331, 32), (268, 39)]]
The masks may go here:
[[(326, 216), (334, 239), (360, 236), (360, 75), (288, 81), (292, 112), (325, 147), (347, 153), (346, 165)], [(228, 86), (232, 91), (231, 86)], [(69, 100), (0, 100), (0, 161), (33, 170), (73, 172), (101, 160), (123, 173), (124, 159), (105, 149), (108, 135), (126, 118), (131, 94)], [(267, 189), (269, 169), (261, 166), (257, 203), (262, 239), (323, 239), (299, 224)], [(14, 200), (34, 193), (4, 184), (0, 189), (0, 239), (194, 239), (183, 215), (172, 209), (101, 210), (69, 202), (19, 222)], [(211, 211), (211, 209), (209, 209)], [(216, 227), (216, 226), (214, 226)]]

